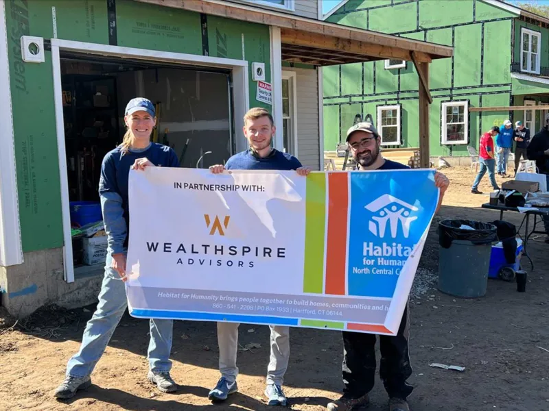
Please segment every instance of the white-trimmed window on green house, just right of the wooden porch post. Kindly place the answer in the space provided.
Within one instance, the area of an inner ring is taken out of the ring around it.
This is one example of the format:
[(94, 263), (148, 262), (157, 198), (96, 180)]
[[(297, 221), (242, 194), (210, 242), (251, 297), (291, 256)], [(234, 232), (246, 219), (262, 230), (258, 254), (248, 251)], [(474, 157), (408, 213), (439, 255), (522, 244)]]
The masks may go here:
[(467, 144), (469, 135), (469, 102), (446, 101), (441, 103), (442, 143)]

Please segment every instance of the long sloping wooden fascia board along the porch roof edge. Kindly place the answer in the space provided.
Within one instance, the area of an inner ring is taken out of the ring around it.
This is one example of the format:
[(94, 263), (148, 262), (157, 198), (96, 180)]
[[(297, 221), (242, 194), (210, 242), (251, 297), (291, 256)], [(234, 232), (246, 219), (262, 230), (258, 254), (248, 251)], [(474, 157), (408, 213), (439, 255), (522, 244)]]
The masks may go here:
[[(371, 32), (369, 30), (357, 29), (355, 27), (345, 27), (326, 21), (318, 21), (312, 18), (293, 16), (282, 12), (271, 10), (261, 10), (249, 5), (240, 5), (236, 3), (224, 3), (218, 0), (197, 1), (197, 0), (135, 0), (141, 3), (150, 3), (162, 5), (171, 8), (189, 10), (192, 12), (211, 14), (213, 16), (222, 16), (233, 18), (250, 23), (259, 23), (272, 25), (288, 29), (308, 32), (311, 34), (320, 34), (323, 36), (338, 38), (348, 42), (359, 42), (363, 45), (376, 45), (377, 47), (389, 47), (398, 49), (405, 54), (402, 60), (410, 60), (410, 51), (417, 51), (420, 61), (427, 61), (431, 58), (452, 57), (454, 50), (452, 47), (435, 45), (433, 43), (399, 38), (390, 34)], [(309, 43), (314, 45), (314, 42)], [(390, 57), (386, 57), (390, 58)], [(399, 58), (395, 56), (395, 58)]]

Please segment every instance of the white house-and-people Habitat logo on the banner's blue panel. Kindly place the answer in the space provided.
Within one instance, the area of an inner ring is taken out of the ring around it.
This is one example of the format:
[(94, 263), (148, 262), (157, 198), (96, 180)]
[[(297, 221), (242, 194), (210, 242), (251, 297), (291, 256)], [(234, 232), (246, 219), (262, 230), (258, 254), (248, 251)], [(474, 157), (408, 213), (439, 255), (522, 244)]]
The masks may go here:
[(419, 210), (417, 207), (399, 200), (392, 195), (382, 195), (367, 206), (364, 206), (375, 215), (373, 221), (369, 221), (370, 232), (379, 238), (384, 238), (386, 234), (387, 223), (390, 227), (390, 236), (397, 238), (399, 226), (401, 226), (402, 235), (408, 238), (410, 234), (410, 223), (417, 220), (417, 217), (410, 217), (410, 212)]

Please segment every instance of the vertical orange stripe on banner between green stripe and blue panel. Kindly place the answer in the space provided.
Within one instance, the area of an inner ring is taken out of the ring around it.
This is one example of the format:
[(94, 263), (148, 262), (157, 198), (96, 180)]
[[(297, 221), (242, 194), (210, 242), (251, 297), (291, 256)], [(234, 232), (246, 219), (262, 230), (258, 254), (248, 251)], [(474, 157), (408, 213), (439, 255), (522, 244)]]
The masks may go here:
[(347, 259), (348, 173), (328, 174), (326, 294), (345, 295)]

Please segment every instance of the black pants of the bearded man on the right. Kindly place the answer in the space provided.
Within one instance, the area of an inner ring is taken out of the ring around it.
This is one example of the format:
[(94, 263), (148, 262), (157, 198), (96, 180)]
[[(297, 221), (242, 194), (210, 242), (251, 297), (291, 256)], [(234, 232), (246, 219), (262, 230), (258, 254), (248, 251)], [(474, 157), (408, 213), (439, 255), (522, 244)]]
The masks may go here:
[[(414, 389), (406, 383), (412, 375), (408, 338), (408, 305), (402, 315), (396, 336), (379, 336), (381, 360), (379, 377), (390, 398), (406, 399)], [(375, 383), (375, 336), (359, 332), (344, 331), (343, 334), (343, 383), (344, 394), (354, 398), (369, 393)]]

